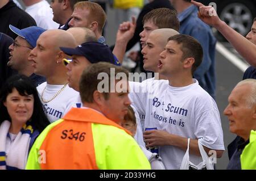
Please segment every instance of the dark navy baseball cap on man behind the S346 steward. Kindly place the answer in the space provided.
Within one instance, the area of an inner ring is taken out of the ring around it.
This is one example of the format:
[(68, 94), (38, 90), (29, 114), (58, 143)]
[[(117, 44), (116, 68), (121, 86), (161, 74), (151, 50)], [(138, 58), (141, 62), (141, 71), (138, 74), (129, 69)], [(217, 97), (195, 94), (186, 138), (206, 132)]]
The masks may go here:
[(115, 63), (114, 55), (110, 48), (96, 41), (89, 41), (83, 43), (76, 48), (60, 47), (60, 49), (69, 56), (84, 56), (92, 64), (95, 64), (97, 62), (109, 62), (111, 64)]

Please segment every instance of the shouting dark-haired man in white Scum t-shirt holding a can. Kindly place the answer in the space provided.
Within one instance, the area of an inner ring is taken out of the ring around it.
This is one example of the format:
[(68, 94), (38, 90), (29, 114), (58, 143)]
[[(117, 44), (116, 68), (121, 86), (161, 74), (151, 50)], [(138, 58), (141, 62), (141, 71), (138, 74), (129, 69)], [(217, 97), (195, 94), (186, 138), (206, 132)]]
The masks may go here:
[(133, 103), (145, 107), (145, 128), (157, 128), (143, 133), (146, 147), (159, 147), (166, 169), (180, 168), (188, 138), (191, 138), (189, 158), (195, 165), (201, 162), (199, 140), (208, 154), (213, 150), (220, 158), (224, 152), (217, 105), (192, 78), (202, 57), (203, 49), (193, 37), (172, 36), (160, 54), (158, 65), (159, 73), (168, 77), (168, 81), (131, 86), (131, 94), (137, 96)]

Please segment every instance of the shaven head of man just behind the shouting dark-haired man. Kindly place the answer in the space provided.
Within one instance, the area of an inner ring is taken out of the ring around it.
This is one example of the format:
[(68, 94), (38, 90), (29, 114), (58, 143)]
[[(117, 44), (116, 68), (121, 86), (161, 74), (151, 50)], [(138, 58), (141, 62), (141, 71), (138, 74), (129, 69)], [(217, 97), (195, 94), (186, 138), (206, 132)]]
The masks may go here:
[[(146, 41), (146, 46), (141, 51), (143, 54), (144, 70), (159, 73), (158, 64), (160, 53), (166, 47), (168, 38), (174, 35), (179, 35), (179, 32), (171, 28), (161, 28), (150, 33)], [(159, 76), (160, 79), (167, 79), (162, 75)]]

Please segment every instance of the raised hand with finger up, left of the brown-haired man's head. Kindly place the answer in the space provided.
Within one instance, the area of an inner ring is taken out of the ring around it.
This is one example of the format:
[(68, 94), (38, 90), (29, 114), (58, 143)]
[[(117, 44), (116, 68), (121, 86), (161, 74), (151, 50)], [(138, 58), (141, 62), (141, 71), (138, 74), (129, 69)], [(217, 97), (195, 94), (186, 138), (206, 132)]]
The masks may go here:
[(131, 19), (132, 22), (123, 22), (119, 25), (116, 41), (128, 43), (133, 37), (136, 28), (136, 18), (133, 16)]

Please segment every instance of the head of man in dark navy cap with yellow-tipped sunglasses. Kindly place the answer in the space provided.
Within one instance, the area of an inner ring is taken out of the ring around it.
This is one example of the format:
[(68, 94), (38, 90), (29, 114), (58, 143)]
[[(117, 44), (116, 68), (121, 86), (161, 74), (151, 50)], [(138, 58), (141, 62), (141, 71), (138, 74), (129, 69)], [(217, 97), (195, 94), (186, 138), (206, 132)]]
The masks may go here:
[(76, 91), (79, 91), (79, 81), (82, 71), (90, 64), (97, 62), (109, 62), (114, 64), (114, 55), (110, 48), (102, 43), (90, 41), (79, 45), (76, 48), (60, 49), (69, 56), (72, 56), (72, 61), (64, 60), (64, 64), (68, 69), (68, 85)]

